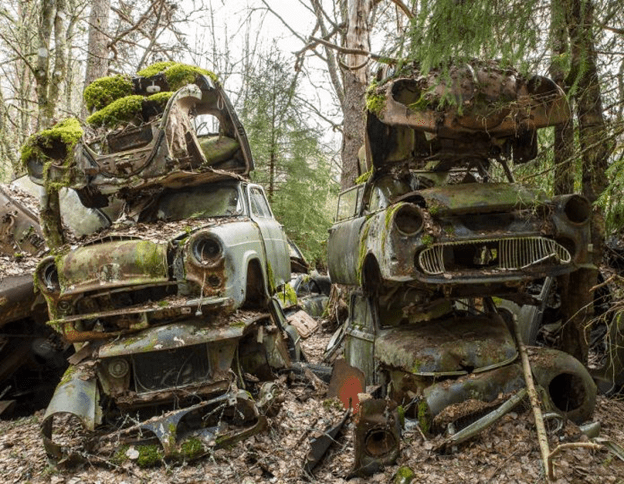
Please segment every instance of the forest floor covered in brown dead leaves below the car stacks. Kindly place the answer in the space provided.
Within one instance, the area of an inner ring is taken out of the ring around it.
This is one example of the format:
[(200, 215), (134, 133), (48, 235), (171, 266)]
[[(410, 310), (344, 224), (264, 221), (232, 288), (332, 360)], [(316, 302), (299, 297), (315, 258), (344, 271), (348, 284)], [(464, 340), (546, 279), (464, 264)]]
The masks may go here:
[[(305, 342), (318, 356), (327, 334)], [(286, 388), (286, 385), (284, 385)], [(230, 449), (219, 449), (197, 461), (140, 468), (129, 459), (114, 464), (95, 456), (70, 469), (55, 467), (46, 458), (39, 434), (43, 411), (30, 417), (0, 421), (0, 481), (5, 483), (131, 484), (131, 483), (297, 483), (398, 482), (401, 466), (414, 472), (414, 483), (537, 483), (544, 482), (540, 451), (530, 408), (516, 408), (476, 438), (450, 454), (434, 450), (441, 437), (425, 440), (420, 432), (404, 432), (396, 465), (367, 479), (348, 479), (353, 467), (353, 419), (332, 445), (314, 475), (302, 471), (309, 439), (335, 424), (344, 410), (324, 396), (318, 381), (290, 382), (285, 401), (268, 431)], [(624, 401), (598, 397), (594, 421), (600, 437), (624, 444)], [(574, 424), (550, 434), (551, 450), (562, 442), (586, 441)], [(624, 462), (607, 450), (576, 448), (555, 458), (557, 483), (624, 483)]]

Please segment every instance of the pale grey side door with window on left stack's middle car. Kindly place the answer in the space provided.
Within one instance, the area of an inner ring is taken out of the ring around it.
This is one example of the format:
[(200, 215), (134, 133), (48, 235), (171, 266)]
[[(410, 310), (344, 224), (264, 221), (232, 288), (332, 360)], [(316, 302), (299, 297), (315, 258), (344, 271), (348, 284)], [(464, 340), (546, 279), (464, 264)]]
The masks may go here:
[(251, 219), (262, 232), (267, 262), (271, 265), (275, 283), (283, 284), (290, 279), (290, 258), (284, 227), (273, 217), (261, 186), (248, 185), (247, 193)]

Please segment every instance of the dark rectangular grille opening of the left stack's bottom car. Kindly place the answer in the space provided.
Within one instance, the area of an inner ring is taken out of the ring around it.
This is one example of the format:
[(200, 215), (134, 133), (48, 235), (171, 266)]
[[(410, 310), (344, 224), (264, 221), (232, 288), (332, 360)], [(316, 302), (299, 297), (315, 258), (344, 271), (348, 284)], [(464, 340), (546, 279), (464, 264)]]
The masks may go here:
[(210, 378), (206, 345), (193, 345), (132, 356), (137, 393), (181, 388)]

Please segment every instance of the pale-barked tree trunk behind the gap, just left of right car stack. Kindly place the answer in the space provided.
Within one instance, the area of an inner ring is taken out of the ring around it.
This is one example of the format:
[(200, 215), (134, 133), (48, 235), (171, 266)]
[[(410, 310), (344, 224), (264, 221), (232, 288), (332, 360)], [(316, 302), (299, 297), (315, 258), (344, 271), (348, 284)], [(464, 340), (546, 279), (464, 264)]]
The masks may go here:
[[(368, 19), (371, 11), (370, 0), (349, 0), (348, 28), (345, 47), (368, 52), (370, 50)], [(364, 95), (366, 93), (367, 56), (348, 54), (343, 76), (344, 86), (344, 128), (342, 138), (342, 175), (340, 185), (343, 189), (355, 184), (360, 175), (358, 151), (364, 144)]]

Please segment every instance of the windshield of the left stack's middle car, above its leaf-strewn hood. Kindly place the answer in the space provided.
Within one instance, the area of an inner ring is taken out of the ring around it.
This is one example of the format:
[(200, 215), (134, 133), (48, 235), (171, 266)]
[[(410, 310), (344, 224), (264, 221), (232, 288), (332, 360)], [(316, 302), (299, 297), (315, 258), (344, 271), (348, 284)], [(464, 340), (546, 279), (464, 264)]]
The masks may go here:
[(158, 220), (231, 217), (243, 213), (236, 185), (211, 185), (165, 191), (158, 201)]

